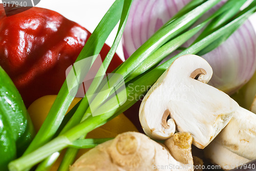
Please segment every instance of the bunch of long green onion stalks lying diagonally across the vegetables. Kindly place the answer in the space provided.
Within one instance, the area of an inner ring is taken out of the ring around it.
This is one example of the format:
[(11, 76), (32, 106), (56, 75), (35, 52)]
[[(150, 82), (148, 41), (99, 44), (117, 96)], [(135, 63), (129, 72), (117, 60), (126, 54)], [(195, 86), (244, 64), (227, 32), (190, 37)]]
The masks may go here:
[[(35, 139), (22, 157), (9, 163), (9, 169), (11, 171), (27, 170), (46, 159), (45, 162), (42, 162), (43, 164), (38, 167), (38, 170), (43, 170), (44, 168), (49, 168), (49, 165), (52, 164), (51, 161), (54, 161), (51, 160), (51, 155), (61, 151), (63, 148), (93, 146), (90, 141), (86, 141), (87, 139), (85, 141), (83, 140), (85, 135), (130, 108), (138, 100), (136, 96), (138, 97), (146, 93), (146, 90), (143, 89), (135, 91), (135, 87), (152, 86), (166, 69), (172, 65), (173, 61), (181, 55), (198, 54), (200, 52), (207, 53), (207, 51), (217, 48), (221, 42), (227, 39), (227, 35), (230, 35), (230, 31), (234, 32), (237, 30), (256, 10), (255, 0), (241, 12), (239, 12), (239, 9), (243, 5), (242, 1), (229, 0), (203, 23), (189, 29), (206, 11), (219, 2), (220, 0), (191, 1), (114, 71), (115, 74), (122, 75), (126, 84), (125, 88), (121, 86), (120, 80), (113, 76), (111, 79), (114, 83), (106, 93), (90, 98), (87, 98), (87, 96), (84, 97), (67, 115), (71, 117), (71, 119), (66, 119), (67, 123), (63, 124), (64, 122), (62, 121), (65, 113), (74, 98), (74, 96), (70, 95), (66, 80)], [(99, 77), (93, 80), (92, 88), (89, 88), (92, 94), (103, 89), (105, 86), (104, 82), (108, 83), (108, 80), (104, 80), (103, 77), (100, 76), (104, 75), (105, 68), (108, 67), (116, 47), (119, 44), (131, 4), (132, 1), (117, 0), (102, 18), (77, 58), (77, 61), (79, 61), (99, 53), (105, 39), (120, 20), (114, 44), (108, 56), (103, 61), (102, 68), (97, 73)], [(108, 23), (108, 27), (105, 27), (106, 23)], [(207, 24), (209, 25), (206, 27), (206, 31), (204, 31), (190, 47), (157, 67), (158, 63), (164, 57), (178, 49), (185, 41), (198, 33), (198, 31), (203, 29)], [(209, 49), (208, 47), (211, 48)], [(92, 66), (94, 60), (95, 58), (93, 57), (86, 71)], [(76, 68), (73, 68), (73, 70), (75, 78), (71, 77), (71, 80), (74, 80), (71, 87), (76, 88), (80, 80), (83, 80), (82, 78), (85, 76), (84, 73), (86, 73), (86, 71), (84, 71), (84, 69), (77, 70)], [(74, 90), (73, 93), (75, 94), (77, 89)], [(118, 104), (115, 103), (117, 98), (114, 94), (115, 90), (125, 95), (125, 98), (119, 98), (120, 101)], [(127, 97), (133, 98), (130, 99)], [(94, 116), (92, 116), (91, 105), (94, 106), (94, 109), (97, 109), (94, 112)], [(59, 127), (63, 127), (63, 129), (58, 130)], [(104, 141), (103, 139), (97, 142)], [(95, 144), (97, 144), (97, 142)], [(71, 157), (64, 159), (67, 161), (68, 165), (64, 164), (60, 166), (60, 170), (68, 169), (68, 166), (72, 164), (74, 160), (76, 152), (77, 149), (68, 149), (68, 153), (71, 154)]]

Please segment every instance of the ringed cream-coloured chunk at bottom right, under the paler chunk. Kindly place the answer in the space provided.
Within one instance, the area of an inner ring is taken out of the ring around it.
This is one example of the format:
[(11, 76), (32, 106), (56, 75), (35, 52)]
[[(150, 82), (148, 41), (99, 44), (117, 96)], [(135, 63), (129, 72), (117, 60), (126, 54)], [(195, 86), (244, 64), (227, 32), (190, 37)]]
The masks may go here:
[(212, 164), (220, 165), (224, 170), (236, 168), (250, 161), (229, 151), (224, 145), (215, 142), (215, 140), (204, 149), (204, 154)]

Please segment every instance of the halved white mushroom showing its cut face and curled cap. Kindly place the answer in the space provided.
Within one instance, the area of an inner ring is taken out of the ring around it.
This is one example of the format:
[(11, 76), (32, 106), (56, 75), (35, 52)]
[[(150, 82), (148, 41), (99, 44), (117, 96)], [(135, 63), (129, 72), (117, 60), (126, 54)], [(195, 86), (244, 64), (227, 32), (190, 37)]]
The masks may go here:
[[(206, 84), (212, 69), (197, 55), (176, 59), (145, 95), (139, 118), (146, 135), (167, 139), (176, 129), (189, 132), (193, 144), (207, 146), (227, 125), (238, 103)], [(167, 113), (167, 114), (166, 114)], [(170, 119), (166, 122), (166, 115)]]

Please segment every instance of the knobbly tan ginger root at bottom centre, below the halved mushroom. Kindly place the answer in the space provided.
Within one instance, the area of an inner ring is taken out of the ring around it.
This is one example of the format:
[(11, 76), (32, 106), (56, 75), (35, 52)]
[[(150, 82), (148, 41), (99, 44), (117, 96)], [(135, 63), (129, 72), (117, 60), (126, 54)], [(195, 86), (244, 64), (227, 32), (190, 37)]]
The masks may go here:
[(193, 170), (191, 139), (189, 133), (177, 133), (165, 143), (168, 149), (144, 134), (122, 133), (82, 155), (70, 170)]

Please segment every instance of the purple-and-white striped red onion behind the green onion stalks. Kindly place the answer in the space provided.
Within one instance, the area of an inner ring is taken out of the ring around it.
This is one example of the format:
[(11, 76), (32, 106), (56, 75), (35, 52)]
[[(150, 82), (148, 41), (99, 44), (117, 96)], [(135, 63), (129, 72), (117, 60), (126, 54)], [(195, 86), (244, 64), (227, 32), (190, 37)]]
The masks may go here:
[[(125, 59), (188, 2), (190, 0), (134, 0), (123, 34)], [(226, 0), (211, 9), (200, 21), (224, 2)], [(190, 45), (195, 38), (191, 38), (184, 46)], [(214, 70), (209, 84), (228, 94), (236, 92), (256, 70), (256, 34), (250, 21), (247, 20), (220, 47), (202, 57)]]

